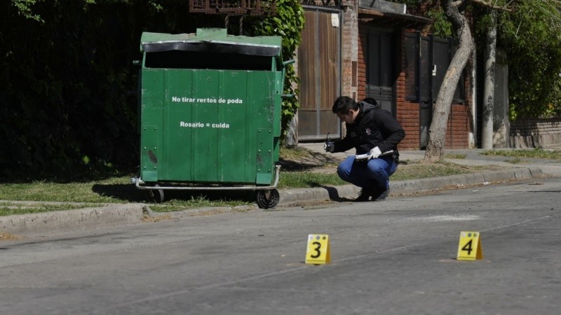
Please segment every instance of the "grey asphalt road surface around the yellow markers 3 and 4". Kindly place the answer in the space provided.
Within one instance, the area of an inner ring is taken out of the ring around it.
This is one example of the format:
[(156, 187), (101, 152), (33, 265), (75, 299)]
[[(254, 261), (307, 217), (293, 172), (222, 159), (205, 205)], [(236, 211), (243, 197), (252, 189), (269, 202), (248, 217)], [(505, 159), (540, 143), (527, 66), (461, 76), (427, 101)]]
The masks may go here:
[[(0, 314), (559, 314), (561, 183), (532, 179), (0, 243)], [(483, 259), (456, 260), (461, 231)], [(330, 237), (306, 265), (307, 236)]]

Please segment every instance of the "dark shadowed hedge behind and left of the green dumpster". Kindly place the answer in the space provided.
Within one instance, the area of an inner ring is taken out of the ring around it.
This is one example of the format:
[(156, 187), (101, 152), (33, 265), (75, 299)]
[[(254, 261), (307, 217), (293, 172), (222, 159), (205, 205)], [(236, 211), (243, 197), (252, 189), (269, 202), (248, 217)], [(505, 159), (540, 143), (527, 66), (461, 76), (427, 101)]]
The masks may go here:
[(180, 0), (2, 1), (0, 175), (135, 167), (142, 31), (224, 24)]

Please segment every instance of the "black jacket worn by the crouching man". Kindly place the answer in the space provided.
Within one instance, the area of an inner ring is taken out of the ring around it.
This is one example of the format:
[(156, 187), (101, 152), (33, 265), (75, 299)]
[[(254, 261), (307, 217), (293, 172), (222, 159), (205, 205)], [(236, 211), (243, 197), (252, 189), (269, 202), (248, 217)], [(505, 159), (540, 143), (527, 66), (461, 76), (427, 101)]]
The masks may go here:
[(399, 157), (398, 144), (405, 138), (405, 130), (391, 113), (367, 102), (359, 102), (354, 123), (346, 124), (346, 137), (334, 143), (334, 152), (356, 148), (356, 154), (368, 153), (378, 147), (382, 153), (393, 150)]

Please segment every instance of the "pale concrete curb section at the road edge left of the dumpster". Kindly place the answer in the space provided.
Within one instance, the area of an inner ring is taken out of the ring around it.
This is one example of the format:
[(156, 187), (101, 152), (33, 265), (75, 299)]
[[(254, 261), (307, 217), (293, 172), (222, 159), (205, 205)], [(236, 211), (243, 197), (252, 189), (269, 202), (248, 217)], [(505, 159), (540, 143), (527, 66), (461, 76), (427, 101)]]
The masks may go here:
[(96, 208), (0, 216), (0, 231), (25, 234), (138, 223), (142, 219), (143, 208), (144, 204), (109, 204)]

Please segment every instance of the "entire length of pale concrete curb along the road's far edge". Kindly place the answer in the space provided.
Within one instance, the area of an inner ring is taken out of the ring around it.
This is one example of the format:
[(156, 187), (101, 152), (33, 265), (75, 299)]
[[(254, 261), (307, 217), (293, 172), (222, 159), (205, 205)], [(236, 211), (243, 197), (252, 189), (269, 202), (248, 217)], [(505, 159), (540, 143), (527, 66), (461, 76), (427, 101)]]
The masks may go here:
[[(539, 167), (520, 167), (496, 172), (474, 173), (436, 177), (432, 179), (415, 179), (411, 181), (392, 181), (391, 194), (422, 192), (445, 188), (448, 186), (471, 185), (491, 181), (513, 179), (530, 179), (540, 176)], [(340, 198), (354, 199), (360, 188), (353, 185), (323, 188), (304, 188), (280, 190), (278, 206), (290, 206), (302, 202), (320, 202), (325, 200), (339, 200)], [(180, 211), (182, 215), (205, 214), (211, 211), (227, 212), (240, 207), (210, 207)], [(255, 209), (255, 207), (241, 207), (238, 210)], [(146, 204), (109, 204), (105, 207), (84, 208), (67, 211), (51, 211), (41, 214), (24, 214), (18, 216), (0, 216), (0, 232), (13, 234), (40, 233), (52, 230), (81, 230), (96, 228), (100, 225), (124, 225), (139, 223), (143, 214), (157, 217)], [(178, 213), (176, 213), (177, 215)]]

